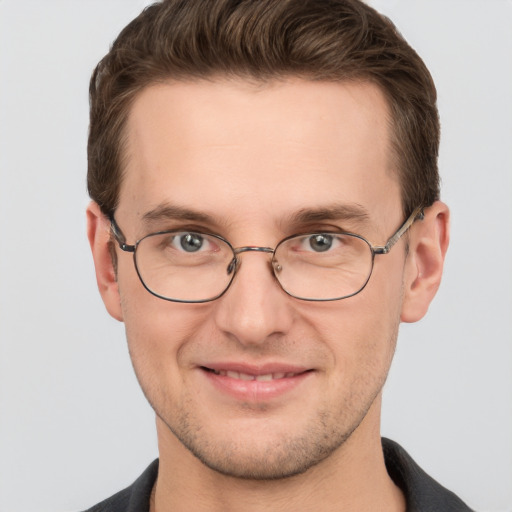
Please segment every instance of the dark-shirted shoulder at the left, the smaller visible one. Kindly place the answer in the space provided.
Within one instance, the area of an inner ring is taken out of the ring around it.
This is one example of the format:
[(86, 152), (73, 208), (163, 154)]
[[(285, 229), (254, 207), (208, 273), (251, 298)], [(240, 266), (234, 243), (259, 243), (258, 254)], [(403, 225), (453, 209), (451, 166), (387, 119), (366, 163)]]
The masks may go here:
[(85, 512), (149, 512), (149, 498), (157, 475), (158, 459), (132, 485)]

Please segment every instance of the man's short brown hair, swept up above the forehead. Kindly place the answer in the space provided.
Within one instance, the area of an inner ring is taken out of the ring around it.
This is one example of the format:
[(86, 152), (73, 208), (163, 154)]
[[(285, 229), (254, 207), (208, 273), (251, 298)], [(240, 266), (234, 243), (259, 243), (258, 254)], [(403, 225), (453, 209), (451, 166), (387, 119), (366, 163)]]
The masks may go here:
[(114, 212), (131, 104), (148, 85), (217, 75), (376, 83), (410, 214), (439, 198), (436, 89), (393, 23), (359, 0), (163, 0), (119, 34), (90, 82), (89, 194)]

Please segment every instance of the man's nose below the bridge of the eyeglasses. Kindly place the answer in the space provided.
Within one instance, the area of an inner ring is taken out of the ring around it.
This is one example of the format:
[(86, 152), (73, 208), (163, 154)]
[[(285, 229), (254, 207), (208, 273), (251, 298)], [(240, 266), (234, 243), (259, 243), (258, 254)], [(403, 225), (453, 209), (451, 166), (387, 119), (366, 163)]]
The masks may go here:
[[(261, 249), (261, 248), (260, 248)], [(237, 273), (216, 301), (217, 327), (247, 346), (259, 346), (286, 334), (293, 321), (293, 300), (280, 287), (270, 263), (272, 250), (239, 251)]]

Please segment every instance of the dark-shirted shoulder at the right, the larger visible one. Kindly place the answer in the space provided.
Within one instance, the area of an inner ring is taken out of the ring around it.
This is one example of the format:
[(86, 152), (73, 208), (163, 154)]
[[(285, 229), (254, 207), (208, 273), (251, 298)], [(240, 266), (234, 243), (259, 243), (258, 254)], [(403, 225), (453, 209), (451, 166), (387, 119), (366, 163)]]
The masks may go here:
[(389, 476), (405, 495), (408, 512), (472, 512), (458, 496), (427, 475), (398, 444), (382, 439)]

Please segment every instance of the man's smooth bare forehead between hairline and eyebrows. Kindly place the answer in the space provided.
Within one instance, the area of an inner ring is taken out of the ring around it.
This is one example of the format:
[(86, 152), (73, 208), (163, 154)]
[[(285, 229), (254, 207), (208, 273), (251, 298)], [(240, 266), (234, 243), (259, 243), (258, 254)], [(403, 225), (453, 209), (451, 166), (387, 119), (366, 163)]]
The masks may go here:
[(372, 84), (153, 85), (126, 136), (119, 211), (133, 222), (162, 205), (251, 223), (331, 204), (400, 212), (388, 108)]

